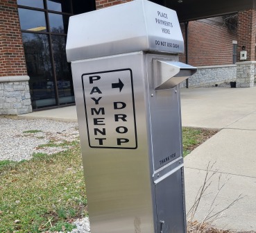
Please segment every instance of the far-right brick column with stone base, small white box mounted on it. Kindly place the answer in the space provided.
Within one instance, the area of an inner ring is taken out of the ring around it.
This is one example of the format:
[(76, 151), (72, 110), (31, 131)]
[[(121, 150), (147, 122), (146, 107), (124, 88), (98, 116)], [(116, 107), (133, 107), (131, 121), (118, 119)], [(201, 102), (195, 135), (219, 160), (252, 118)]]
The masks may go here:
[[(255, 76), (256, 11), (239, 12), (237, 21), (237, 87), (253, 87)], [(244, 48), (243, 48), (244, 47)], [(240, 51), (247, 51), (247, 59), (240, 60)]]

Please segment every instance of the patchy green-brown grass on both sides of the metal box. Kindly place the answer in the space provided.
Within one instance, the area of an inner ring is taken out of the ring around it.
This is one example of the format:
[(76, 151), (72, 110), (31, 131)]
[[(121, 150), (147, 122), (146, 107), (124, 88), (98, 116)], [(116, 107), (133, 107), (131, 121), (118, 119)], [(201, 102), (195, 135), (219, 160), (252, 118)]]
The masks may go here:
[[(184, 154), (214, 133), (183, 128)], [(80, 143), (67, 146), (54, 155), (36, 153), (29, 161), (0, 161), (0, 232), (71, 231), (72, 220), (87, 215)]]

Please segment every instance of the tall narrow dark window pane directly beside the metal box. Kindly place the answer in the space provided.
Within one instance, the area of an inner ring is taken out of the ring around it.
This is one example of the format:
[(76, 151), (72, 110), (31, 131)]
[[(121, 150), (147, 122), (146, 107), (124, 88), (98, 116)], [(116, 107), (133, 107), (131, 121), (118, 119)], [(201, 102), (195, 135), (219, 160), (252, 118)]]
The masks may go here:
[(74, 91), (70, 65), (66, 58), (65, 36), (52, 35), (53, 59), (56, 69), (58, 97), (60, 105), (74, 103)]

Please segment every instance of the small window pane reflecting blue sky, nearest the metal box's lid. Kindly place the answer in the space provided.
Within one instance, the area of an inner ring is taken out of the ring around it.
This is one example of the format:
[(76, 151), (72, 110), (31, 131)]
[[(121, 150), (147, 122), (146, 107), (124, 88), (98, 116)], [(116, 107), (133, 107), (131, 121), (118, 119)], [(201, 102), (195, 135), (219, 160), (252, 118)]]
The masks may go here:
[(49, 13), (49, 22), (52, 33), (67, 33), (69, 24), (69, 17), (67, 15)]

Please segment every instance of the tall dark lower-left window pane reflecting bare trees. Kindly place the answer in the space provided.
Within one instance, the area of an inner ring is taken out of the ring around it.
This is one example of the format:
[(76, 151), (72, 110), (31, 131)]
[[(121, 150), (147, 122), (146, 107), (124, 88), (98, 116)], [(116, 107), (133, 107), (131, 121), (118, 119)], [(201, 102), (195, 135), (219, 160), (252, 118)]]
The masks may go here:
[(33, 108), (56, 105), (48, 35), (22, 33), (22, 40)]

